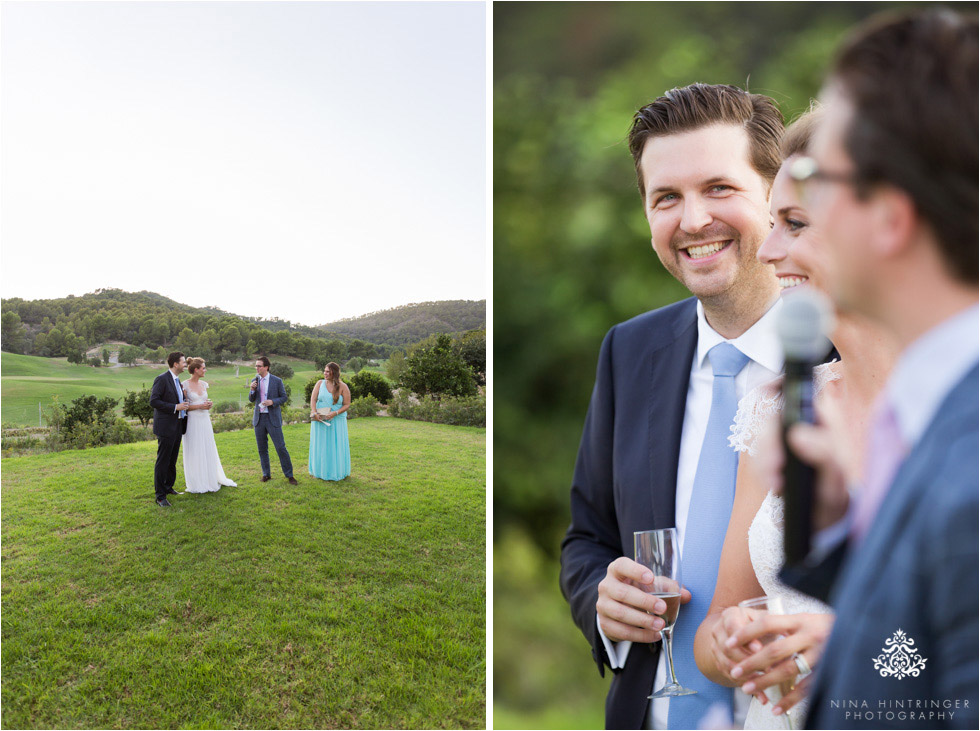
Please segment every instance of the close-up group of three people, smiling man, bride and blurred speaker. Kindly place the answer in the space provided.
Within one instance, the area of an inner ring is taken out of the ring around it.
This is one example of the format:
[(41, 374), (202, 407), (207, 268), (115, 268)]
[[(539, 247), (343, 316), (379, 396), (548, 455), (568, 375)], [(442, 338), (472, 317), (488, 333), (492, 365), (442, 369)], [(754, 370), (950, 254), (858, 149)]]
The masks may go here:
[[(609, 728), (978, 727), (977, 70), (976, 19), (929, 10), (855, 33), (788, 130), (733, 86), (634, 115), (653, 248), (694, 296), (607, 334), (575, 465), (561, 586), (615, 673)], [(808, 289), (836, 356), (817, 424), (788, 433), (816, 478), (809, 555), (784, 566), (775, 330)], [(669, 631), (696, 693), (651, 701), (667, 605), (632, 556), (657, 528), (681, 544)], [(740, 606), (762, 596), (784, 613)]]

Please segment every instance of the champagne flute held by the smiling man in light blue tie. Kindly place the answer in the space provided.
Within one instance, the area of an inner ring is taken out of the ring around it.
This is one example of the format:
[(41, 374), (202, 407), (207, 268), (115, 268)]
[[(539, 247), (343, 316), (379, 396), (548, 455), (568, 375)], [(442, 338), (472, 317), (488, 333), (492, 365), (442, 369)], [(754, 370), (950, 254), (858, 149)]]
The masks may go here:
[(696, 690), (685, 688), (674, 674), (673, 633), (677, 612), (681, 608), (681, 556), (678, 548), (677, 529), (642, 530), (633, 533), (633, 559), (653, 572), (653, 585), (644, 589), (667, 604), (661, 616), (664, 628), (661, 635), (667, 652), (667, 670), (670, 680), (663, 688), (647, 698), (671, 698), (693, 695)]

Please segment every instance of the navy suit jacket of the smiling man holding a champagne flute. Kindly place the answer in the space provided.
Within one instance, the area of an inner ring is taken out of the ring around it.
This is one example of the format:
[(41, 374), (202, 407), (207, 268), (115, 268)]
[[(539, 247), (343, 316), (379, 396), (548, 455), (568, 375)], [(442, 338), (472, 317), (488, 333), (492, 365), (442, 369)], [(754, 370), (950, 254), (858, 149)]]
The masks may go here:
[[(572, 478), (561, 589), (600, 674), (609, 658), (595, 605), (606, 567), (633, 555), (633, 531), (674, 525), (681, 427), (697, 339), (692, 297), (616, 325), (599, 353)], [(607, 728), (641, 728), (660, 643), (650, 648), (633, 647), (626, 666), (615, 671), (606, 698)]]

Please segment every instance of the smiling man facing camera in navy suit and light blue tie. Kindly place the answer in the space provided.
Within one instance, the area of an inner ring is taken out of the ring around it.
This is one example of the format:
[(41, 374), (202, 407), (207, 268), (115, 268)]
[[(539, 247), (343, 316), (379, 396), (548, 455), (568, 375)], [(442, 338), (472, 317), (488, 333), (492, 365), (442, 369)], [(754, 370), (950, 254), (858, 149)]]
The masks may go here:
[[(653, 249), (694, 297), (606, 335), (575, 465), (561, 587), (599, 672), (616, 673), (609, 728), (697, 728), (711, 706), (732, 706), (731, 689), (697, 670), (693, 642), (735, 494), (735, 405), (782, 368), (778, 285), (756, 259), (782, 131), (771, 99), (721, 85), (672, 89), (633, 119)], [(652, 575), (631, 558), (633, 532), (674, 526), (690, 590), (673, 629), (674, 668), (697, 693), (651, 703), (665, 685), (655, 616), (665, 605), (640, 588)]]

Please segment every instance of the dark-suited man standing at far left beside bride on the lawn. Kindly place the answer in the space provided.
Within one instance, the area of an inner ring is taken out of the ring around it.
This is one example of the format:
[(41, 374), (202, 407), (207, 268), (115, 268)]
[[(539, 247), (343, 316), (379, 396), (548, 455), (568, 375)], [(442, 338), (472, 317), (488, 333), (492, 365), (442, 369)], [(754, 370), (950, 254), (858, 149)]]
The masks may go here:
[(174, 490), (177, 481), (177, 455), (180, 441), (187, 431), (187, 402), (180, 387), (180, 374), (187, 361), (184, 354), (174, 352), (167, 356), (166, 373), (153, 380), (150, 389), (150, 406), (153, 407), (153, 433), (157, 437), (157, 461), (153, 467), (153, 489), (157, 505), (169, 508), (167, 495), (180, 495)]

